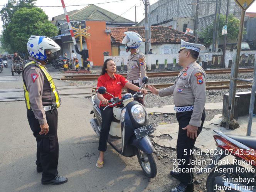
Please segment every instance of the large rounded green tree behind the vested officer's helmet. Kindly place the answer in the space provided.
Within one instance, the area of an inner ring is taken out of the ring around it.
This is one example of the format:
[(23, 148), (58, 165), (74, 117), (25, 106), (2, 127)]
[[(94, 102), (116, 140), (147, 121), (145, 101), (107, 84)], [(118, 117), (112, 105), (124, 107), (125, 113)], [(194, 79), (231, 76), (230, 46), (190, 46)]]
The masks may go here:
[(19, 8), (14, 14), (0, 38), (3, 48), (9, 52), (27, 55), (27, 41), (30, 35), (53, 37), (58, 29), (48, 20), (41, 8)]

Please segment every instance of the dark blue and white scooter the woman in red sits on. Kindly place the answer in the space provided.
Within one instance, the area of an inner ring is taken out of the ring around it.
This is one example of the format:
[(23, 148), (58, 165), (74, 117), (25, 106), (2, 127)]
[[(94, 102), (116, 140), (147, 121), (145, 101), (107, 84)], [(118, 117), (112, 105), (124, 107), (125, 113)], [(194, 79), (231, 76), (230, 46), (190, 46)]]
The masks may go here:
[[(148, 77), (144, 77), (143, 84), (147, 82)], [(100, 87), (98, 93), (107, 93), (106, 88)], [(114, 116), (110, 126), (108, 143), (125, 157), (137, 155), (138, 162), (145, 175), (149, 178), (154, 178), (157, 175), (157, 165), (152, 154), (153, 145), (148, 137), (150, 133), (154, 132), (154, 129), (148, 122), (148, 115), (144, 106), (138, 101), (133, 101), (133, 98), (144, 98), (144, 96), (139, 91), (134, 95), (126, 93), (121, 99), (113, 96), (108, 101), (112, 104), (105, 108), (121, 103), (121, 105), (113, 107)], [(100, 100), (97, 95), (94, 95), (92, 101), (93, 111), (91, 111), (91, 114), (94, 114), (94, 118), (91, 118), (90, 123), (95, 133), (99, 136), (102, 125), (101, 110), (99, 108)]]

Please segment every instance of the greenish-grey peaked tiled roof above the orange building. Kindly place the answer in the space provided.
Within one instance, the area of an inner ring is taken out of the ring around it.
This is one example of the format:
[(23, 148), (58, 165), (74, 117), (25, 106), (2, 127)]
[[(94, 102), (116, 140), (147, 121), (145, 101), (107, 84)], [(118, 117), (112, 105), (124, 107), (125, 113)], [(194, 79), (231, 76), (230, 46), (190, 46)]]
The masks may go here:
[(106, 22), (133, 22), (96, 5), (88, 5), (69, 16), (70, 20), (100, 20)]

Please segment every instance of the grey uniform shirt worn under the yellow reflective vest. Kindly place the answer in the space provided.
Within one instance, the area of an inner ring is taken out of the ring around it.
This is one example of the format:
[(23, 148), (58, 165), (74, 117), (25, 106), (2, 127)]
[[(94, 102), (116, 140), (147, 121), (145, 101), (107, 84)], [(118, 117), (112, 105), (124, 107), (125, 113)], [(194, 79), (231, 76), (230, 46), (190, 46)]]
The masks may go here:
[[(37, 64), (40, 64), (33, 57), (29, 57), (29, 60), (35, 61)], [(31, 78), (32, 74), (38, 74), (38, 77), (35, 80), (35, 82), (33, 82), (33, 79)], [(29, 66), (25, 67), (23, 76), (27, 87), (27, 91), (29, 91), (30, 108), (33, 110), (35, 118), (39, 121), (39, 124), (43, 125), (47, 123), (43, 106), (51, 105), (53, 101), (49, 81), (44, 75), (44, 72), (42, 72), (42, 70), (39, 67), (33, 64), (30, 64)], [(59, 99), (59, 102), (61, 104), (61, 99)]]

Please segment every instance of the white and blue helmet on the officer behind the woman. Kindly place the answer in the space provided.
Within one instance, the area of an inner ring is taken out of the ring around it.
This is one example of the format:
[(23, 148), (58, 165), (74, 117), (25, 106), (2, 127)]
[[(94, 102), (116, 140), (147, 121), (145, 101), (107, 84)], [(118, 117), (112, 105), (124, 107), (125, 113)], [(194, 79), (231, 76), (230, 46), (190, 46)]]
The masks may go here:
[(133, 31), (127, 31), (124, 32), (124, 34), (126, 34), (126, 36), (123, 39), (122, 44), (125, 44), (127, 47), (131, 49), (137, 49), (138, 47), (140, 47), (142, 37), (139, 34)]

